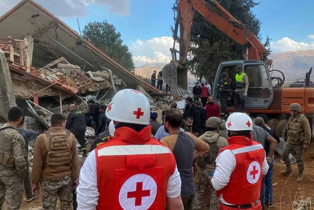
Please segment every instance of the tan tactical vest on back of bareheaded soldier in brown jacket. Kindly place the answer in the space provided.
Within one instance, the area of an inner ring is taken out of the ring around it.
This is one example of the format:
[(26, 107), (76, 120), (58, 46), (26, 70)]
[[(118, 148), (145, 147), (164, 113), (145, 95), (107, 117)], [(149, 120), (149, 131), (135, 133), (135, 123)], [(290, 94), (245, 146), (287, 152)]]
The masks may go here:
[(72, 142), (70, 145), (69, 138), (71, 133), (65, 131), (65, 133), (53, 133), (47, 132), (44, 135), (45, 147), (48, 152), (46, 164), (59, 166), (59, 165), (71, 165), (72, 160)]

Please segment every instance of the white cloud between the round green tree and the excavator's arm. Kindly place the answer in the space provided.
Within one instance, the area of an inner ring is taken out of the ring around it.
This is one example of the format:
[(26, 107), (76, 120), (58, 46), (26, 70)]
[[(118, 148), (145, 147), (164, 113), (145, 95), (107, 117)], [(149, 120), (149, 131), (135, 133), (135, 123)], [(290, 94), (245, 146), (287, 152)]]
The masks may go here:
[[(130, 50), (133, 52), (133, 61), (136, 66), (150, 63), (169, 63), (171, 60), (170, 48), (173, 38), (170, 36), (154, 37), (152, 39), (136, 39)], [(178, 48), (179, 45), (176, 45)]]

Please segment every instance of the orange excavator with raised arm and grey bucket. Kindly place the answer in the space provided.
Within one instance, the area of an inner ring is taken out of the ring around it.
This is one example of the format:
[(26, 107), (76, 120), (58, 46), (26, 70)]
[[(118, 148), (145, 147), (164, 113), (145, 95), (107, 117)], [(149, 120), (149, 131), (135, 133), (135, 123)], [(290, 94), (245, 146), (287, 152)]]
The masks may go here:
[[(218, 82), (223, 72), (227, 72), (231, 78), (235, 77), (234, 67), (242, 66), (242, 70), (249, 78), (249, 87), (246, 98), (246, 112), (252, 114), (266, 114), (270, 119), (268, 122), (275, 133), (287, 138), (287, 127), (289, 115), (289, 105), (299, 103), (302, 113), (308, 118), (312, 137), (314, 133), (314, 88), (311, 88), (311, 70), (306, 73), (304, 82), (291, 84), (290, 87), (283, 87), (284, 74), (281, 77), (271, 76), (273, 71), (272, 60), (267, 56), (270, 54), (257, 37), (249, 30), (248, 25), (242, 24), (228, 13), (217, 1), (211, 3), (205, 0), (177, 0), (177, 16), (174, 28), (174, 43), (170, 48), (172, 60), (167, 64), (162, 72), (165, 82), (171, 84), (172, 90), (178, 93), (187, 90), (187, 54), (190, 42), (191, 27), (195, 10), (202, 14), (208, 22), (213, 24), (228, 37), (242, 45), (243, 57), (245, 60), (232, 60), (221, 62), (218, 66), (214, 79), (213, 95), (218, 95)], [(180, 26), (180, 39), (177, 33)], [(180, 49), (176, 50), (175, 45), (179, 40)], [(179, 53), (179, 60), (176, 54)], [(278, 83), (273, 87), (273, 80)], [(214, 97), (218, 102), (218, 97)], [(227, 107), (227, 111), (234, 112), (232, 103)]]

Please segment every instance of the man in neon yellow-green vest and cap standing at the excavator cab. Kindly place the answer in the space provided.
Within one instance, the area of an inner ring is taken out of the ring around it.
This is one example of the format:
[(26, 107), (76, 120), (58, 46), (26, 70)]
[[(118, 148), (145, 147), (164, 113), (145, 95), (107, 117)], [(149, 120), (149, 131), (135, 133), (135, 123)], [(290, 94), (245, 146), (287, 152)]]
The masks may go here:
[(235, 95), (235, 106), (236, 112), (245, 112), (245, 98), (247, 96), (247, 89), (249, 88), (249, 79), (242, 71), (240, 65), (235, 68), (236, 74), (236, 95)]

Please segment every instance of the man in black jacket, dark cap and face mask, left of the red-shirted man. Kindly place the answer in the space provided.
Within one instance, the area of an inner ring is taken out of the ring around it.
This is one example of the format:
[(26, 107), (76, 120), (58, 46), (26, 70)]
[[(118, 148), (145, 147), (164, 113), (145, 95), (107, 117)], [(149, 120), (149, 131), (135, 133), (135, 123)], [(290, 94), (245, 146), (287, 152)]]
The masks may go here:
[(184, 118), (192, 117), (193, 118), (193, 133), (201, 133), (201, 117), (198, 108), (193, 104), (193, 99), (191, 97), (187, 97), (185, 99), (185, 103), (187, 107), (185, 109)]

